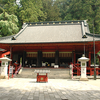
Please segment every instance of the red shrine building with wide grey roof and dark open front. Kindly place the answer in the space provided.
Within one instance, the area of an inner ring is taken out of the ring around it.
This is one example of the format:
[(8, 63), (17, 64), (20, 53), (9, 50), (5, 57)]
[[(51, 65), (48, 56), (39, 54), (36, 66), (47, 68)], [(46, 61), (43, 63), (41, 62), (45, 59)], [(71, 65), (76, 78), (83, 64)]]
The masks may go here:
[[(94, 35), (95, 53), (100, 50), (100, 35)], [(23, 67), (68, 67), (85, 54), (91, 66), (93, 34), (86, 20), (24, 23), (12, 36), (0, 38), (0, 57), (7, 54), (12, 63)]]

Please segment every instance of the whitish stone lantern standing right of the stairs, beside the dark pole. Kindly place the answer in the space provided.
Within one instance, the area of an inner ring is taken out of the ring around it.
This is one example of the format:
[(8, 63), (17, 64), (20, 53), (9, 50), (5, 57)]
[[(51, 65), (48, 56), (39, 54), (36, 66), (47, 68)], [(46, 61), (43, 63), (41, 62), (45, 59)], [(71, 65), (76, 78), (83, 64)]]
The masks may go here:
[(86, 58), (85, 55), (78, 59), (79, 62), (81, 62), (81, 78), (80, 81), (88, 81), (88, 78), (86, 77), (86, 67), (87, 62), (89, 61), (89, 58)]

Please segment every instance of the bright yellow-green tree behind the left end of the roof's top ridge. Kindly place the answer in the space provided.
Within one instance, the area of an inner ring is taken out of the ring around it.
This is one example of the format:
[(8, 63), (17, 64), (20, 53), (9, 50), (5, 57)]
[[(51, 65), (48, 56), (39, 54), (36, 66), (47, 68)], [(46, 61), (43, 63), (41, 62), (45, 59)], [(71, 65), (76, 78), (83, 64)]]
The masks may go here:
[(19, 18), (23, 22), (45, 21), (46, 14), (43, 13), (41, 0), (21, 0)]

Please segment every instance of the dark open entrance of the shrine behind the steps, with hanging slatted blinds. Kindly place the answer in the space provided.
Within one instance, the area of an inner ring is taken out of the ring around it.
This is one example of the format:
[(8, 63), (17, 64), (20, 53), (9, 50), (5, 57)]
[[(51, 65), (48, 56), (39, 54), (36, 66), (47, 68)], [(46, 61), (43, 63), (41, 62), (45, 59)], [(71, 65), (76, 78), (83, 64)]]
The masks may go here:
[(25, 63), (23, 67), (54, 68), (54, 65), (58, 65), (62, 68), (68, 68), (73, 59), (72, 52), (39, 52), (26, 52), (23, 58)]

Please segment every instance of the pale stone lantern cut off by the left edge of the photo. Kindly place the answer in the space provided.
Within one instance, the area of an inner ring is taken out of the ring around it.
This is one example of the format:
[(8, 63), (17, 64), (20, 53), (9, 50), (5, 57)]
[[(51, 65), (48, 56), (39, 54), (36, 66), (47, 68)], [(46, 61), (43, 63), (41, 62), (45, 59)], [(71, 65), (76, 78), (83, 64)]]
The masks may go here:
[(12, 61), (11, 59), (7, 58), (6, 55), (0, 58), (1, 67), (0, 67), (0, 79), (7, 78), (7, 71), (8, 71), (8, 61)]

